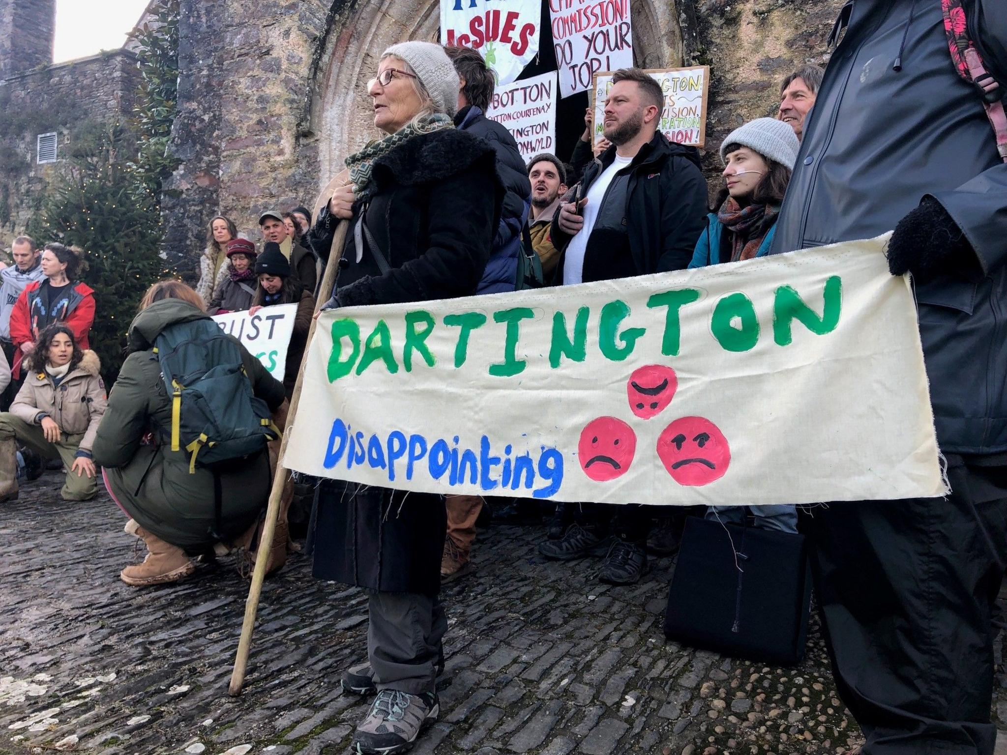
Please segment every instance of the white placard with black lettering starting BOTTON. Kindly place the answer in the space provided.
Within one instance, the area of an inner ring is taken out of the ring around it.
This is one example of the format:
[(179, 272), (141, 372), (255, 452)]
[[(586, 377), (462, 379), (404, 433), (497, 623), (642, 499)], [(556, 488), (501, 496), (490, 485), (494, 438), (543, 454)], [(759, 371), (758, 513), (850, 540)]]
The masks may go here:
[(556, 71), (497, 87), (486, 118), (507, 127), (526, 160), (556, 151)]

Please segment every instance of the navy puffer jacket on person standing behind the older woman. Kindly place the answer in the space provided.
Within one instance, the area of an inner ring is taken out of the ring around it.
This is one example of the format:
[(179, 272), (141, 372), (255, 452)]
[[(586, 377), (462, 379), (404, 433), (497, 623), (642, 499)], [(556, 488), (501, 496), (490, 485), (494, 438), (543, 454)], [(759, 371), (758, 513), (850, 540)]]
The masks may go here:
[(492, 252), (476, 293), (514, 291), (521, 252), (521, 230), (528, 221), (528, 211), (532, 206), (532, 182), (528, 179), (528, 168), (511, 132), (496, 121), (486, 118), (478, 108), (462, 108), (454, 122), (460, 131), (467, 131), (489, 142), (496, 152), (496, 173), (507, 189)]

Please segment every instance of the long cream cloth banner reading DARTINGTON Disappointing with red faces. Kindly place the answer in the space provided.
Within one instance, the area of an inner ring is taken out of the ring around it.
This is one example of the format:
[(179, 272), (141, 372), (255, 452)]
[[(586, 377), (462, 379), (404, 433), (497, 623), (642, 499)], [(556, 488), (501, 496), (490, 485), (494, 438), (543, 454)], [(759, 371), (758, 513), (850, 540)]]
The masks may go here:
[(324, 312), (283, 463), (564, 501), (943, 495), (912, 294), (884, 243)]

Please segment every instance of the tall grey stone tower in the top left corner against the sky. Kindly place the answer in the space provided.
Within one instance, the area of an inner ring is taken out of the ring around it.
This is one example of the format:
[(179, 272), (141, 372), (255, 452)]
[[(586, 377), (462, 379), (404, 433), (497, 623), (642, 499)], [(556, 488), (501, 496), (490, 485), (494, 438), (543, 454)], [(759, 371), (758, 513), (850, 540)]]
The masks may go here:
[(0, 79), (52, 62), (56, 0), (0, 0)]

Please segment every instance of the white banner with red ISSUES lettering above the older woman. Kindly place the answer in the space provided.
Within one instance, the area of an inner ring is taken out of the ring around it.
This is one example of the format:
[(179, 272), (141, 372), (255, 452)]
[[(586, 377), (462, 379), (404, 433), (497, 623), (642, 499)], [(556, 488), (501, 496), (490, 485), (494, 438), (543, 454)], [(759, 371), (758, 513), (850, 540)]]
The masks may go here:
[(477, 49), (496, 71), (496, 84), (515, 81), (539, 53), (538, 0), (441, 0), (444, 44)]

